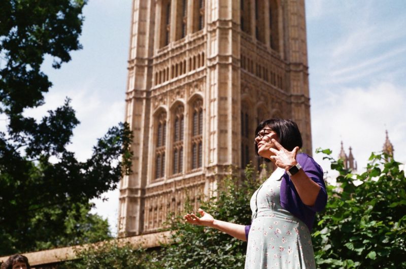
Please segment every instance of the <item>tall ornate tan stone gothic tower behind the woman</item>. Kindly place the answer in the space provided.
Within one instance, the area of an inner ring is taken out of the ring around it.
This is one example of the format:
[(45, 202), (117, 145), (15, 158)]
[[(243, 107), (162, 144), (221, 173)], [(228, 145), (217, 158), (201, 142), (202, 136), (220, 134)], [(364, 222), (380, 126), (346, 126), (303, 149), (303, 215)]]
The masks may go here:
[(133, 0), (130, 35), (120, 236), (197, 207), (230, 164), (258, 165), (263, 119), (296, 121), (311, 154), (304, 0)]

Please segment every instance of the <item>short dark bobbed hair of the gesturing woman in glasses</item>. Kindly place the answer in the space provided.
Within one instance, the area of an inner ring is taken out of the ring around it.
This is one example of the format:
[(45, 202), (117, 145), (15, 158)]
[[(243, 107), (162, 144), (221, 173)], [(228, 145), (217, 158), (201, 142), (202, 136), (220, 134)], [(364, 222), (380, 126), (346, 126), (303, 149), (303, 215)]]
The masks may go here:
[[(301, 139), (299, 128), (293, 120), (285, 119), (267, 119), (259, 123), (255, 129), (255, 137), (257, 133), (265, 127), (269, 127), (276, 132), (279, 138), (279, 144), (285, 149), (292, 151), (295, 147), (301, 148), (303, 141)], [(258, 152), (257, 143), (255, 142), (255, 150)]]

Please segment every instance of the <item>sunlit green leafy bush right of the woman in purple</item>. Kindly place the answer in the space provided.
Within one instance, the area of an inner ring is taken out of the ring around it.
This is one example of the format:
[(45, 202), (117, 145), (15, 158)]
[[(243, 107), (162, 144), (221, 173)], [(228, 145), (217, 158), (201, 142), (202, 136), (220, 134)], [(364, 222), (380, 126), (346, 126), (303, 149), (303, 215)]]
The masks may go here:
[(386, 154), (371, 154), (366, 172), (352, 174), (330, 150), (318, 150), (339, 172), (328, 186), (313, 241), (320, 268), (406, 267), (406, 179)]

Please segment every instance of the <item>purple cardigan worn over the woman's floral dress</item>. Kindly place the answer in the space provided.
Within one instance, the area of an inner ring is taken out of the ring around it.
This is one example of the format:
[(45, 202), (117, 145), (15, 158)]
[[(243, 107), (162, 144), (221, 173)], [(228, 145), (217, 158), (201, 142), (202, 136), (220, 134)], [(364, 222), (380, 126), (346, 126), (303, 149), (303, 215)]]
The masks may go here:
[[(290, 180), (289, 175), (285, 172), (282, 176), (281, 182), (281, 206), (283, 209), (289, 211), (292, 215), (303, 221), (311, 231), (316, 212), (322, 211), (327, 204), (327, 192), (323, 180), (323, 170), (320, 165), (307, 154), (297, 154), (296, 161), (300, 164), (304, 173), (320, 186), (320, 191), (313, 207), (304, 205), (293, 185), (293, 182)], [(251, 225), (245, 226), (247, 240), (250, 228)]]

